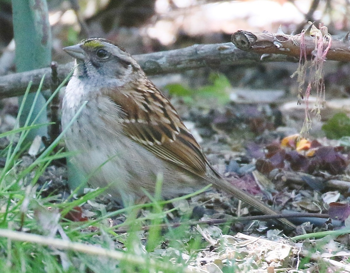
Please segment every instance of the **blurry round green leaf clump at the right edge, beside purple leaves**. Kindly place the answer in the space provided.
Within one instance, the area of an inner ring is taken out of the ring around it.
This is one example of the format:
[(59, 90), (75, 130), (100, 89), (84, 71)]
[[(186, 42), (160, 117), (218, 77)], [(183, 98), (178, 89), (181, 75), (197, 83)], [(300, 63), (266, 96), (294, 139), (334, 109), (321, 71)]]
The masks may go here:
[(350, 118), (345, 113), (337, 113), (322, 126), (322, 130), (331, 139), (350, 136)]

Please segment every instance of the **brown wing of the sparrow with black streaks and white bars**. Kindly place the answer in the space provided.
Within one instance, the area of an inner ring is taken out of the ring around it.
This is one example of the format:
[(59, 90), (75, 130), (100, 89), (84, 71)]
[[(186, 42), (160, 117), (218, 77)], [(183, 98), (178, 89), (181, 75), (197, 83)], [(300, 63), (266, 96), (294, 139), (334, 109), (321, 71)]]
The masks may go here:
[(119, 122), (126, 136), (155, 156), (205, 177), (207, 160), (200, 146), (152, 82), (142, 79), (122, 92), (107, 89), (105, 94), (123, 109)]

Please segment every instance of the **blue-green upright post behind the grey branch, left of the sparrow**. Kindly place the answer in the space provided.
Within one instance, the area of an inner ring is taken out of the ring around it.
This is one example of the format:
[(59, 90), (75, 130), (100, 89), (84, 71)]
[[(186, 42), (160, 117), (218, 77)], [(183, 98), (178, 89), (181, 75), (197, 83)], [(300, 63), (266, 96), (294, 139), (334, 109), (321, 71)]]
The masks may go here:
[[(16, 69), (23, 72), (50, 66), (51, 62), (51, 29), (49, 13), (45, 0), (12, 0), (13, 28), (16, 43)], [(25, 102), (20, 119), (22, 126), (33, 104), (35, 94), (31, 93)], [(22, 97), (19, 98), (19, 103)], [(43, 107), (45, 99), (38, 98), (31, 120)], [(31, 121), (30, 121), (31, 122)], [(47, 123), (47, 113), (44, 111), (36, 121), (37, 124)], [(29, 132), (27, 141), (30, 142), (36, 135), (47, 136), (47, 128), (40, 127)]]

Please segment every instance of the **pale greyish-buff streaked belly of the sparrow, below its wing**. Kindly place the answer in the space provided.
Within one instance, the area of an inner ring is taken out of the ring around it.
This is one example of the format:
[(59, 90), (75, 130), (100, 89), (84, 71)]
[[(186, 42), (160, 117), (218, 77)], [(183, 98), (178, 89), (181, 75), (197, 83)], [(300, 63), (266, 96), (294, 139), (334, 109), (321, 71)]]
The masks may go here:
[[(97, 103), (98, 100), (93, 98), (87, 102), (65, 135), (68, 150), (75, 153), (73, 163), (89, 177), (90, 186), (109, 186), (106, 193), (132, 202), (144, 196), (145, 190), (154, 194), (159, 174), (162, 174), (162, 197), (165, 199), (194, 192), (208, 184), (178, 166), (164, 164), (153, 153), (121, 134), (119, 128), (110, 128), (108, 120), (118, 115), (118, 109), (111, 113), (113, 107), (108, 105), (109, 101)], [(82, 99), (76, 105), (63, 108), (63, 128), (83, 102)], [(67, 103), (66, 100), (63, 103)], [(104, 107), (109, 111), (104, 111)], [(94, 122), (101, 112), (104, 113), (102, 122)]]

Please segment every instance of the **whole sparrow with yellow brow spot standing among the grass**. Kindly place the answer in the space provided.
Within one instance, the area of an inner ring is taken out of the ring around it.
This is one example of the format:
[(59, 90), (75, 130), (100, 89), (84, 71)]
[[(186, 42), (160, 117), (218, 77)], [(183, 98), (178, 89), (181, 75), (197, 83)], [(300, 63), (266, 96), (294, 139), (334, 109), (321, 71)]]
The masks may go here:
[(87, 101), (65, 142), (70, 151), (78, 151), (76, 163), (88, 174), (94, 171), (91, 186), (109, 185), (112, 196), (134, 201), (145, 195), (142, 188), (154, 193), (156, 176), (162, 173), (166, 199), (212, 183), (275, 214), (210, 166), (172, 104), (128, 53), (102, 38), (86, 39), (64, 51), (76, 58), (76, 66), (63, 99), (63, 128)]

